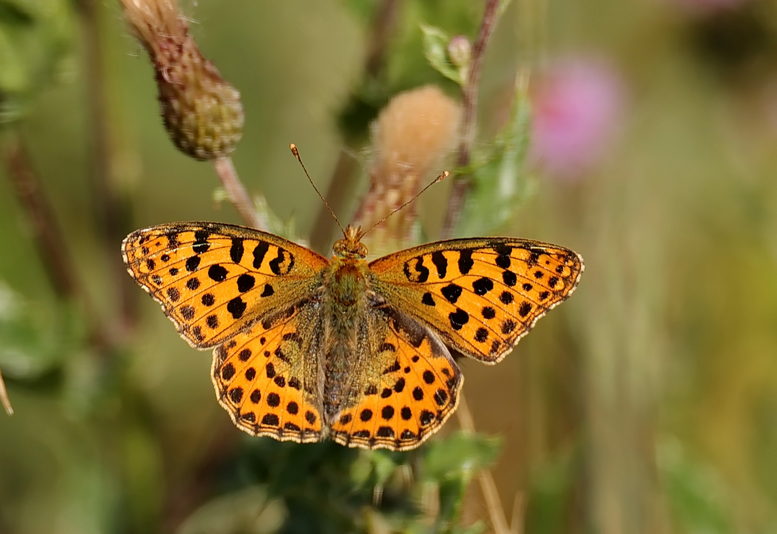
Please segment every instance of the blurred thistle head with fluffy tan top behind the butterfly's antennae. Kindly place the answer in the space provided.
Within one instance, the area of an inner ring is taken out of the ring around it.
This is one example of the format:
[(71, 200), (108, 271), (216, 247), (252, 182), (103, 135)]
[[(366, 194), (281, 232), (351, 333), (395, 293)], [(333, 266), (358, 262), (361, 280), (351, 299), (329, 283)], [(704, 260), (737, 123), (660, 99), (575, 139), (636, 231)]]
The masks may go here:
[[(435, 166), (454, 148), (461, 108), (436, 86), (399, 93), (372, 124), (374, 159), (370, 190), (354, 224), (368, 229), (412, 199), (421, 180), (438, 173)], [(382, 222), (364, 239), (371, 253), (407, 246), (413, 240), (416, 203)]]

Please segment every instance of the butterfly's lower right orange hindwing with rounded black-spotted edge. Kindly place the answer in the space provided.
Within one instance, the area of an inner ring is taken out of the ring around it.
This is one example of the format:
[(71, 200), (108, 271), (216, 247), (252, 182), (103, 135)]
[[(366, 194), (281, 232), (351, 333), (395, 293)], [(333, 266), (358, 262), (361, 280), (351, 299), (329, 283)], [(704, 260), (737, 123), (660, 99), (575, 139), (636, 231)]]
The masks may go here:
[(341, 445), (416, 448), (456, 409), (464, 377), (426, 326), (376, 302), (357, 328), (354, 377), (331, 423)]

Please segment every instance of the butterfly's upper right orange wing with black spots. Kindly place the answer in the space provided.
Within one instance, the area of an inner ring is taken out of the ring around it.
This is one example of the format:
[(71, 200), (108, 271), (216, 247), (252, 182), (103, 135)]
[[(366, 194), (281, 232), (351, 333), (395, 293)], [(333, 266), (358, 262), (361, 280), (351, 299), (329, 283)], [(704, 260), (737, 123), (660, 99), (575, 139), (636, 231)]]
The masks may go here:
[(500, 361), (549, 309), (569, 297), (583, 258), (516, 238), (451, 239), (369, 265), (372, 288), (432, 326), (462, 354)]

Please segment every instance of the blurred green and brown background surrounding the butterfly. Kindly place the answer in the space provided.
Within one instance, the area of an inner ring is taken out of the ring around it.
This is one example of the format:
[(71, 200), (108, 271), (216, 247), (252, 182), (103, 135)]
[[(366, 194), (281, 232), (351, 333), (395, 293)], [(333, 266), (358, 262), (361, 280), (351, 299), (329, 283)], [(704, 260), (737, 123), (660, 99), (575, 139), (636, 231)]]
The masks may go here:
[(465, 160), (494, 2), (179, 6), (240, 92), (268, 229), (336, 237), (294, 142), (343, 224), (458, 175), (373, 253), (504, 235), (586, 261), (500, 365), (460, 361), (475, 434), (389, 453), (232, 425), (120, 241), (243, 219), (170, 142), (120, 2), (0, 0), (0, 532), (777, 532), (777, 4), (497, 3)]

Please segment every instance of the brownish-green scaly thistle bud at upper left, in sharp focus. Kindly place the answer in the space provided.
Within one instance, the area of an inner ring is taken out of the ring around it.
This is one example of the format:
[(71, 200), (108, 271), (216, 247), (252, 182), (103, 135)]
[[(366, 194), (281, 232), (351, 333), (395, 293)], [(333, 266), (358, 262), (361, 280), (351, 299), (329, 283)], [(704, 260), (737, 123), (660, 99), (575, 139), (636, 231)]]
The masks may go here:
[(154, 65), (162, 119), (172, 142), (194, 159), (228, 155), (242, 137), (240, 93), (200, 53), (175, 0), (122, 3)]

